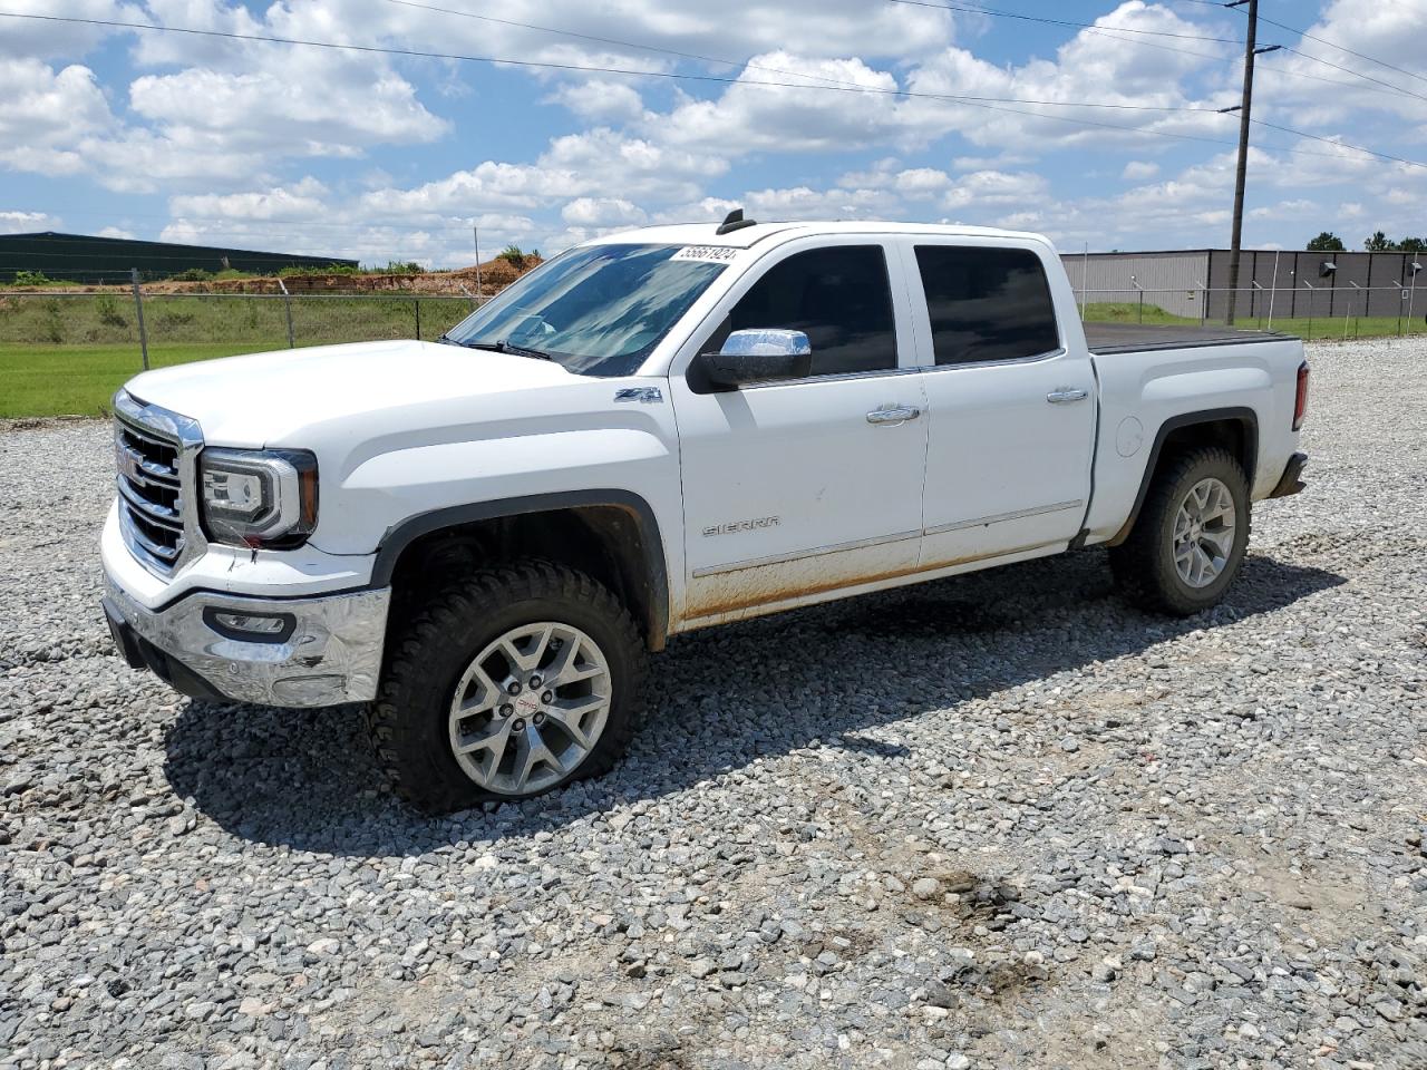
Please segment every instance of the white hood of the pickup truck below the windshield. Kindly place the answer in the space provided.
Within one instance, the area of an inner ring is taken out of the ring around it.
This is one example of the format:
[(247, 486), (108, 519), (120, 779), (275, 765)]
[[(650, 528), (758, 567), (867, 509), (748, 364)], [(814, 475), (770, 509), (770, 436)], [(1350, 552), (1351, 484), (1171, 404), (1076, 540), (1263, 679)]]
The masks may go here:
[(418, 341), (354, 342), (197, 361), (138, 375), (130, 394), (197, 419), (213, 445), (304, 445), (364, 417), (435, 407), (479, 419), (488, 398), (578, 384), (531, 357)]

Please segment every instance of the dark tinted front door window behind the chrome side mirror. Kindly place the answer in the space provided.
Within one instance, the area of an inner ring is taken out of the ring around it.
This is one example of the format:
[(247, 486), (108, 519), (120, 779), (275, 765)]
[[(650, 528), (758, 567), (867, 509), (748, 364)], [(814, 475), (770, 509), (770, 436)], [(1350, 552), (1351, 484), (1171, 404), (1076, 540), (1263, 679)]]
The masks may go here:
[(812, 344), (812, 374), (841, 375), (896, 367), (896, 321), (880, 245), (796, 253), (775, 264), (714, 334), (775, 327), (802, 331)]

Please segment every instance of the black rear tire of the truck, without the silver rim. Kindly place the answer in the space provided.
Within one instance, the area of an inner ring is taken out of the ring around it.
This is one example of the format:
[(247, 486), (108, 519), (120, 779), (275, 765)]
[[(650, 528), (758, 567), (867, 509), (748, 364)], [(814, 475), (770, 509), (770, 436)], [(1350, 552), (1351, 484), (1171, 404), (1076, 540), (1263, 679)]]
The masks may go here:
[[(1229, 488), (1234, 504), (1234, 539), (1223, 572), (1194, 588), (1174, 568), (1174, 516), (1184, 495), (1206, 478)], [(1129, 538), (1110, 548), (1110, 571), (1120, 592), (1143, 609), (1190, 616), (1219, 605), (1239, 575), (1249, 546), (1249, 481), (1227, 449), (1199, 447), (1172, 458), (1150, 484)]]

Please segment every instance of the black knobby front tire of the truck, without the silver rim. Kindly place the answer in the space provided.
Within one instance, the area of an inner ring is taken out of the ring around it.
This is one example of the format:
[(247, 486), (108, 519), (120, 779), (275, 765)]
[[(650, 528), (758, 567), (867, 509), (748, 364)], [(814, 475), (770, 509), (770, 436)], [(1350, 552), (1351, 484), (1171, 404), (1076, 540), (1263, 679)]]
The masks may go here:
[[(572, 625), (599, 646), (611, 675), (608, 719), (584, 762), (558, 785), (527, 795), (488, 792), (465, 775), (451, 750), (451, 700), (479, 651), (508, 629), (538, 621)], [(422, 810), (450, 813), (489, 800), (528, 799), (609, 772), (634, 735), (645, 668), (645, 643), (629, 611), (589, 576), (548, 561), (485, 568), (395, 625), (367, 728), (394, 790)]]

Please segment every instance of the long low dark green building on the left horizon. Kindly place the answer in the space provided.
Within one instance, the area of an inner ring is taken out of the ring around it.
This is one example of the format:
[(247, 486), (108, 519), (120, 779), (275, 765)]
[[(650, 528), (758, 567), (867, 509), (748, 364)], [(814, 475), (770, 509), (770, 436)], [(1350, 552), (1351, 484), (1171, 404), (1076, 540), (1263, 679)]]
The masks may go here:
[(130, 270), (141, 278), (168, 278), (190, 268), (274, 274), (285, 267), (357, 267), (355, 260), (294, 253), (258, 253), (215, 245), (176, 245), (167, 241), (100, 238), (84, 234), (0, 234), (0, 281), (19, 271), (39, 271), (63, 282), (127, 282)]

